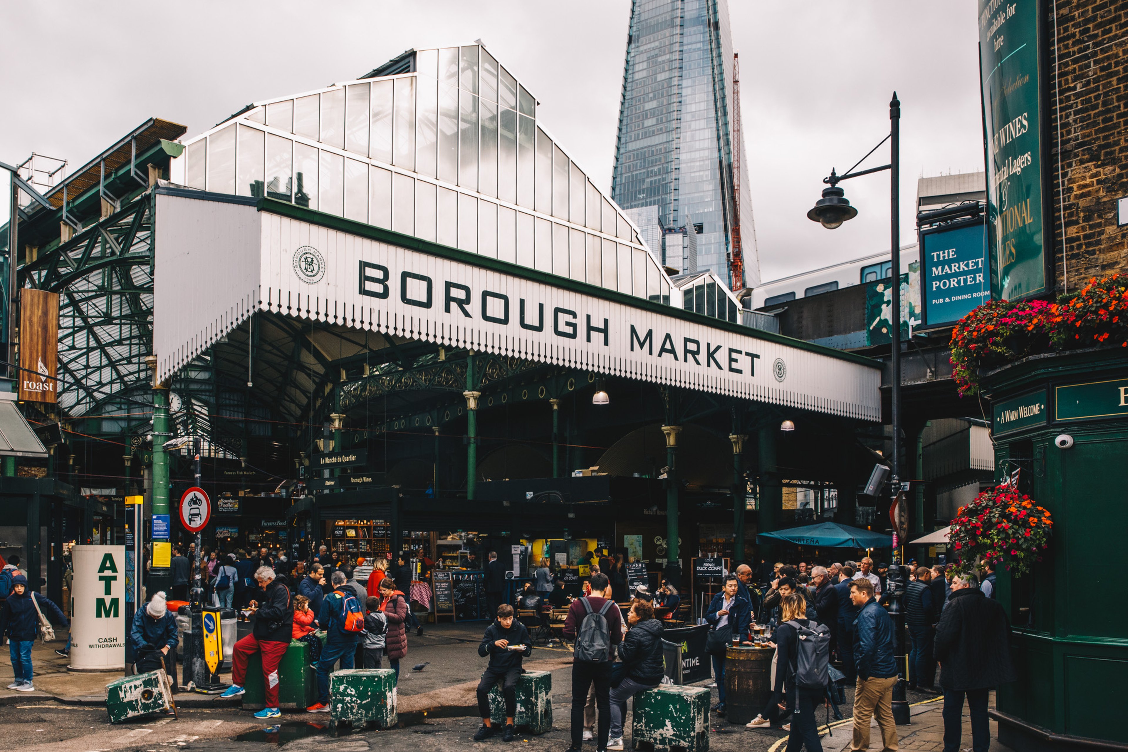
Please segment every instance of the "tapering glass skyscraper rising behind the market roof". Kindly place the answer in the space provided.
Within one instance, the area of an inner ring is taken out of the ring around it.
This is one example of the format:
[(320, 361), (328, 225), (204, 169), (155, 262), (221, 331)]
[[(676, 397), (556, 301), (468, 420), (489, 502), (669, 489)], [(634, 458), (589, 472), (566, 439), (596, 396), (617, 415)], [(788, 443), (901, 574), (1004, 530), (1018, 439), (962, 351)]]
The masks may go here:
[(739, 289), (759, 259), (734, 72), (725, 0), (633, 0), (611, 195), (663, 263)]

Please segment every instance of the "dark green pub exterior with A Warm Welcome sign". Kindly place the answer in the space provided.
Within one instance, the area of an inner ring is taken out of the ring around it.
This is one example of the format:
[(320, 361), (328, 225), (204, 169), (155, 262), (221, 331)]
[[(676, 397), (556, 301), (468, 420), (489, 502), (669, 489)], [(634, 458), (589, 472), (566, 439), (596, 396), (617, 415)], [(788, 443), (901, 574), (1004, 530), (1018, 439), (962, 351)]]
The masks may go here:
[(1128, 743), (1118, 691), (1128, 607), (1116, 597), (1128, 531), (1126, 364), (1120, 348), (1094, 349), (1031, 357), (985, 378), (998, 478), (1019, 470), (1021, 490), (1054, 519), (1029, 576), (998, 571), (1019, 681), (998, 688), (994, 714), (999, 741), (1015, 750)]

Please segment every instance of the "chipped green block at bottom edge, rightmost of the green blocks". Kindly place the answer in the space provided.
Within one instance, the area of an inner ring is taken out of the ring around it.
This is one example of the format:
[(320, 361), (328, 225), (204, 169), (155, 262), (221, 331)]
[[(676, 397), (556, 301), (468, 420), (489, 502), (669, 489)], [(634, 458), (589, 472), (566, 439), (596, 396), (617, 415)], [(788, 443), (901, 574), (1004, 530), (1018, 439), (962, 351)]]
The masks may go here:
[(654, 749), (708, 752), (708, 701), (702, 687), (663, 684), (635, 694), (632, 749), (650, 742)]

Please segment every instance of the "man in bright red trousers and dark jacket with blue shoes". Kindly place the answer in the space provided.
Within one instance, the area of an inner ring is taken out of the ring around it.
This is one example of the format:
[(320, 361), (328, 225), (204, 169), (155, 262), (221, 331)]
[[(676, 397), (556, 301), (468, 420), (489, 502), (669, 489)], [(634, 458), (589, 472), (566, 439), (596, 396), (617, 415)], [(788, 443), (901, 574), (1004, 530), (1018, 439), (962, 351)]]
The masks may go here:
[(259, 567), (255, 571), (258, 589), (250, 595), (250, 606), (255, 609), (254, 630), (235, 644), (231, 656), (231, 687), (220, 697), (243, 694), (243, 682), (247, 676), (247, 661), (255, 653), (263, 655), (263, 684), (266, 689), (266, 707), (255, 714), (255, 718), (277, 718), (279, 710), (279, 663), (290, 646), (293, 630), (293, 606), (290, 591), (274, 579), (274, 570)]

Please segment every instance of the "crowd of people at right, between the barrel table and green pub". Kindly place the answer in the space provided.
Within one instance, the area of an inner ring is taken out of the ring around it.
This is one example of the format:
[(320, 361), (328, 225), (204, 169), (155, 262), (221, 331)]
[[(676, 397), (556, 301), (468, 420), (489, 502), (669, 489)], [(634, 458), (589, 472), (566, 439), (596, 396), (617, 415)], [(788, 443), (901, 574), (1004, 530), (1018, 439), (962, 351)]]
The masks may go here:
[[(707, 649), (713, 657), (719, 702), (725, 714), (724, 646), (752, 644), (751, 626), (765, 626), (775, 648), (772, 699), (747, 725), (788, 732), (788, 752), (805, 746), (821, 751), (814, 709), (829, 698), (826, 690), (797, 687), (800, 630), (823, 626), (829, 653), (844, 683), (854, 687), (852, 750), (870, 745), (875, 717), (882, 749), (897, 749), (892, 691), (898, 682), (895, 623), (885, 607), (900, 592), (908, 633), (908, 687), (944, 697), (944, 749), (957, 750), (967, 700), (972, 718), (973, 749), (986, 749), (988, 691), (1014, 681), (1010, 659), (1010, 623), (995, 603), (995, 574), (988, 569), (980, 586), (970, 574), (943, 565), (890, 569), (866, 557), (861, 561), (808, 566), (761, 562), (758, 571), (742, 565), (724, 578), (705, 614), (711, 624)], [(719, 646), (719, 647), (712, 647)], [(936, 667), (941, 667), (938, 687)], [(791, 723), (786, 723), (788, 720)]]

